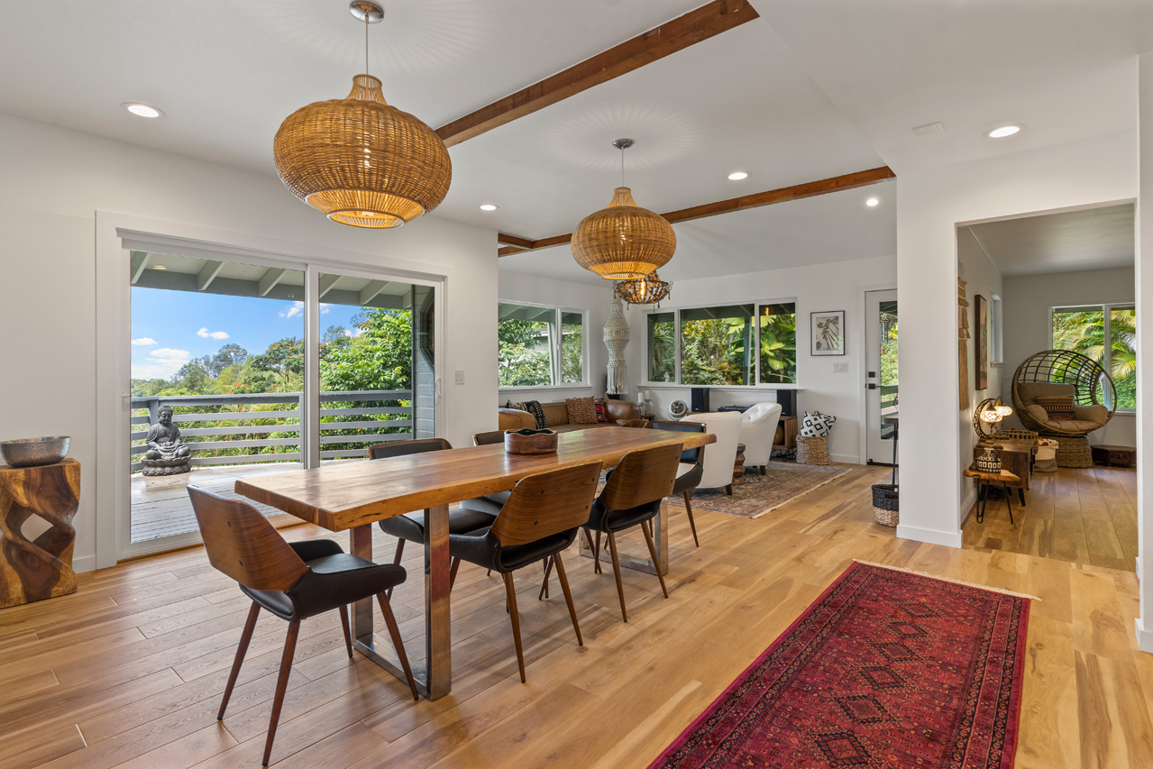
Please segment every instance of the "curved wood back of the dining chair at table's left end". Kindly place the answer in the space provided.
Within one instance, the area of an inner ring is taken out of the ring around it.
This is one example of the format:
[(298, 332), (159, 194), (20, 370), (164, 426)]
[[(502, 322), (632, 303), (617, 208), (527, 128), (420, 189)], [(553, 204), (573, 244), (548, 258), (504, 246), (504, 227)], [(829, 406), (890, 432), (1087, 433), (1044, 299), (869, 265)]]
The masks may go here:
[(287, 590), (308, 566), (251, 505), (188, 487), (209, 563), (250, 590)]

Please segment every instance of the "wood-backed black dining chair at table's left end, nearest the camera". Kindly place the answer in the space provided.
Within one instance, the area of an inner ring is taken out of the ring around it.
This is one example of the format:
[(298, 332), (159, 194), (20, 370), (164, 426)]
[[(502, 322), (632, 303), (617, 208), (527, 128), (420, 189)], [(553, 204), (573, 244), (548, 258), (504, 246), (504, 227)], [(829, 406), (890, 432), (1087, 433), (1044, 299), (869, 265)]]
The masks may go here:
[(244, 653), (253, 640), (256, 619), (261, 609), (288, 621), (284, 654), (280, 657), (280, 674), (277, 677), (276, 695), (272, 700), (272, 717), (269, 734), (264, 741), (264, 766), (272, 755), (272, 740), (280, 721), (292, 658), (296, 650), (302, 619), (338, 609), (340, 626), (345, 631), (345, 648), (353, 656), (352, 634), (348, 631), (348, 604), (376, 596), (380, 613), (389, 626), (389, 635), (397, 648), (397, 656), (408, 679), (413, 699), (416, 681), (408, 665), (408, 655), (400, 640), (400, 628), (392, 613), (386, 590), (405, 581), (402, 566), (374, 564), (371, 560), (346, 553), (331, 540), (285, 542), (280, 534), (251, 505), (235, 499), (226, 499), (195, 485), (188, 487), (188, 496), (196, 513), (204, 540), (204, 550), (214, 568), (240, 583), (241, 591), (253, 600), (244, 621), (244, 631), (236, 647), (236, 658), (228, 673), (217, 721), (224, 719), (228, 699), (232, 696)]

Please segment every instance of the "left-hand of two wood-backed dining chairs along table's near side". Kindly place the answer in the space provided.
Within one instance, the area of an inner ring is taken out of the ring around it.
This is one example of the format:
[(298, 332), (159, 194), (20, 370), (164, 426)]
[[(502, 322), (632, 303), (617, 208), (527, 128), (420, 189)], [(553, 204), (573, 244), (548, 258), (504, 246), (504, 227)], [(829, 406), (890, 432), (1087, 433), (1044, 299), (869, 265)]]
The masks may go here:
[(513, 572), (551, 558), (568, 604), (576, 643), (583, 646), (560, 551), (576, 540), (580, 527), (588, 520), (600, 477), (601, 462), (526, 476), (517, 483), (491, 527), (469, 534), (449, 534), (449, 553), (453, 558), (491, 568), (504, 578), (521, 683), (525, 681), (525, 653)]

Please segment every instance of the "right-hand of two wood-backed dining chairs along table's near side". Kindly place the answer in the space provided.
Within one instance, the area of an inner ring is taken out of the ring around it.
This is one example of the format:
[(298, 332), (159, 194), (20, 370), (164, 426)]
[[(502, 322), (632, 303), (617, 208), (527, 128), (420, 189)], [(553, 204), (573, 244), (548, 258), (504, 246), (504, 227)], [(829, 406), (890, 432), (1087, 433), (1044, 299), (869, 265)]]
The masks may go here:
[(593, 545), (595, 568), (601, 561), (601, 534), (609, 537), (609, 553), (612, 556), (612, 573), (617, 578), (617, 596), (620, 598), (620, 617), (627, 623), (625, 609), (625, 586), (620, 580), (620, 559), (617, 556), (617, 535), (634, 526), (645, 534), (649, 555), (661, 580), (661, 593), (669, 597), (661, 575), (661, 559), (653, 542), (653, 519), (661, 512), (661, 502), (672, 493), (680, 463), (680, 444), (642, 448), (625, 454), (620, 463), (605, 475), (604, 490), (593, 503), (585, 527), (596, 531)]

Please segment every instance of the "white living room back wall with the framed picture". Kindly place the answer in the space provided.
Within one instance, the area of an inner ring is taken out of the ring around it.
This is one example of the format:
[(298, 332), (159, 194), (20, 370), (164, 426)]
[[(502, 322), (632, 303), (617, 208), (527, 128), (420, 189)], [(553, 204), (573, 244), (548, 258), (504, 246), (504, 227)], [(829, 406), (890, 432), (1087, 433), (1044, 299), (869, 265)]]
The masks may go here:
[[(718, 278), (680, 280), (673, 285), (672, 299), (661, 309), (701, 307), (707, 304), (741, 304), (746, 302), (797, 301), (797, 397), (798, 413), (819, 410), (832, 414), (837, 423), (829, 437), (829, 453), (837, 462), (861, 462), (860, 438), (865, 393), (865, 327), (862, 292), (866, 288), (892, 288), (896, 285), (896, 258), (891, 256), (852, 262), (835, 262), (807, 267), (767, 270)], [(845, 310), (845, 355), (814, 357), (809, 354), (809, 312)], [(648, 350), (645, 345), (646, 319), (639, 308), (627, 312), (633, 339), (628, 344), (631, 382), (640, 382), (646, 372)], [(832, 371), (834, 363), (846, 363), (843, 374)], [(653, 392), (653, 412), (668, 419), (669, 404), (689, 402), (689, 387), (646, 384)], [(632, 393), (635, 399), (635, 391)], [(776, 401), (768, 385), (763, 387), (709, 387), (709, 406)]]

